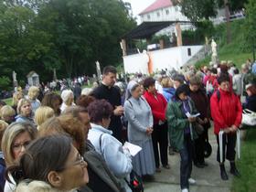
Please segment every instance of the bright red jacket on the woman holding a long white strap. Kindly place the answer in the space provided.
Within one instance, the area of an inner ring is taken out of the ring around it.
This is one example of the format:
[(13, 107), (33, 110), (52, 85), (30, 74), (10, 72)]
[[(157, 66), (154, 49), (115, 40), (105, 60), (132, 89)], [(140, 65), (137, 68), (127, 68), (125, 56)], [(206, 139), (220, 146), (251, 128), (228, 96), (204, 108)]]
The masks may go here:
[(210, 98), (210, 112), (214, 123), (214, 133), (219, 134), (220, 129), (226, 129), (232, 125), (240, 126), (242, 108), (239, 98), (233, 93), (219, 89)]

